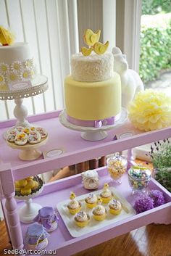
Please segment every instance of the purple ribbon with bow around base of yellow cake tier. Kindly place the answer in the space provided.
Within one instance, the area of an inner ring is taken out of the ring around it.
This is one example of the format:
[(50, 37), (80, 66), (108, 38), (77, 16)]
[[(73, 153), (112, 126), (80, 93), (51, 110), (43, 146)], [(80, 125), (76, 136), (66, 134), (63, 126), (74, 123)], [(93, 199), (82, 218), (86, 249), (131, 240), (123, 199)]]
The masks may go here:
[(67, 120), (70, 123), (73, 123), (74, 125), (79, 125), (79, 126), (85, 126), (85, 127), (94, 127), (94, 128), (101, 128), (101, 126), (105, 125), (114, 125), (114, 117), (108, 117), (105, 119), (101, 120), (79, 120), (74, 117), (70, 117), (67, 115)]

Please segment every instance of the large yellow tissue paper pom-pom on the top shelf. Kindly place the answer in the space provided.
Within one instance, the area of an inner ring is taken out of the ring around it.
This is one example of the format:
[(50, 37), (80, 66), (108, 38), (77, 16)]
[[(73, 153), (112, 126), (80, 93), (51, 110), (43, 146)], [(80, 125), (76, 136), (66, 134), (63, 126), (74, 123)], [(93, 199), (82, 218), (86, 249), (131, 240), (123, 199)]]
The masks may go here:
[(139, 92), (128, 106), (128, 117), (135, 128), (152, 131), (171, 125), (171, 99), (162, 91)]

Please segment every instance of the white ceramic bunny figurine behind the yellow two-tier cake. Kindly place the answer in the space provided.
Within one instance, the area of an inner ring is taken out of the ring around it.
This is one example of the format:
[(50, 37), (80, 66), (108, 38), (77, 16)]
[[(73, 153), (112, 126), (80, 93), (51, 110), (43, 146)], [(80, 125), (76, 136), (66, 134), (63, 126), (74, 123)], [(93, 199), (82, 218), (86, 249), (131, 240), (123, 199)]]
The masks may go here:
[(122, 86), (122, 107), (127, 108), (135, 94), (144, 90), (143, 82), (134, 70), (128, 68), (125, 54), (118, 47), (112, 49), (114, 56), (114, 71), (120, 75)]

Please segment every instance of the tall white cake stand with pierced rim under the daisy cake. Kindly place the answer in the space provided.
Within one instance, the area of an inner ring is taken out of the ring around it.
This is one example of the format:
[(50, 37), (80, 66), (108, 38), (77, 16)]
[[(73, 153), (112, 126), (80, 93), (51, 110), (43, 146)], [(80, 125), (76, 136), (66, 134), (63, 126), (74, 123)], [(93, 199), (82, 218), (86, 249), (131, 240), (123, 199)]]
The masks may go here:
[(31, 81), (32, 86), (28, 88), (17, 89), (14, 91), (0, 91), (1, 100), (12, 100), (16, 106), (14, 107), (14, 117), (17, 118), (17, 123), (14, 127), (30, 127), (30, 123), (25, 118), (28, 116), (27, 108), (22, 105), (23, 98), (28, 98), (31, 96), (36, 96), (38, 94), (43, 94), (48, 88), (48, 78), (45, 75), (37, 75), (34, 80)]

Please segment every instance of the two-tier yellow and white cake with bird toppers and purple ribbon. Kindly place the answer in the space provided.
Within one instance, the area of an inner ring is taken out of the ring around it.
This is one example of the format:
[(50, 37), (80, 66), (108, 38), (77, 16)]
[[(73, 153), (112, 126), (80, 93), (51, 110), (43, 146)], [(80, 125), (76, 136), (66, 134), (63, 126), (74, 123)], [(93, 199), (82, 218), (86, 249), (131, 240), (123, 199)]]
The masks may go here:
[(120, 115), (120, 75), (113, 72), (113, 55), (104, 47), (95, 41), (89, 55), (82, 49), (83, 53), (71, 57), (71, 75), (64, 80), (64, 102), (70, 123), (98, 128), (114, 124)]

